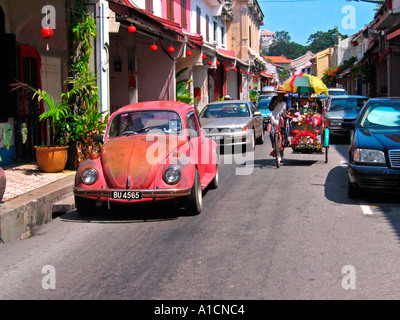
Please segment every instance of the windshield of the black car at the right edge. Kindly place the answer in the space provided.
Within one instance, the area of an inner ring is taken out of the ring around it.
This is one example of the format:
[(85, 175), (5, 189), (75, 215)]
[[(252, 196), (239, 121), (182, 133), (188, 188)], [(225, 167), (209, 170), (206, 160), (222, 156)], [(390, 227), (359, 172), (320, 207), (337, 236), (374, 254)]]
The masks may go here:
[(372, 102), (363, 112), (361, 127), (400, 127), (400, 102)]

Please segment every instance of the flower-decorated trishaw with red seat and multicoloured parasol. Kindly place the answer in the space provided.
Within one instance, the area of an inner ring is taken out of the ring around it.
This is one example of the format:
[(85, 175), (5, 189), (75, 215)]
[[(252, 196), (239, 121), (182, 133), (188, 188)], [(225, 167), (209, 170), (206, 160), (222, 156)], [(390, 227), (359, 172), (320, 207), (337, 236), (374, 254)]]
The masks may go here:
[(284, 84), (292, 101), (292, 108), (274, 133), (274, 151), (277, 168), (280, 167), (285, 148), (295, 154), (324, 154), (328, 162), (329, 129), (326, 126), (325, 103), (318, 93), (328, 89), (316, 77), (300, 74)]

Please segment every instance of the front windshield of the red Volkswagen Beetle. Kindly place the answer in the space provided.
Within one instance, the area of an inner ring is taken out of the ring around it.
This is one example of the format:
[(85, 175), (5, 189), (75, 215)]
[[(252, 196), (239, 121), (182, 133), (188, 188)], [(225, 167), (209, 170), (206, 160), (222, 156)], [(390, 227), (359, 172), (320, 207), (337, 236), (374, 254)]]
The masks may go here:
[(120, 113), (112, 119), (108, 137), (136, 134), (180, 134), (181, 130), (181, 118), (174, 111), (131, 111)]

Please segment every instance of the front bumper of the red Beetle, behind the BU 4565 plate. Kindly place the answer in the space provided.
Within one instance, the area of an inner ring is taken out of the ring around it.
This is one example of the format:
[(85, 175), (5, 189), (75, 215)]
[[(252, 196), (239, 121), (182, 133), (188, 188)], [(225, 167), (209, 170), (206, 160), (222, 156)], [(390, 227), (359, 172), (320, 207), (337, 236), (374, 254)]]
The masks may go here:
[[(111, 198), (112, 192), (127, 191), (119, 189), (89, 189), (74, 187), (74, 195), (77, 197), (107, 200)], [(130, 191), (130, 190), (129, 190)], [(154, 198), (175, 198), (184, 197), (190, 194), (190, 188), (172, 188), (172, 189), (147, 189), (147, 190), (132, 190), (140, 191), (143, 199)]]

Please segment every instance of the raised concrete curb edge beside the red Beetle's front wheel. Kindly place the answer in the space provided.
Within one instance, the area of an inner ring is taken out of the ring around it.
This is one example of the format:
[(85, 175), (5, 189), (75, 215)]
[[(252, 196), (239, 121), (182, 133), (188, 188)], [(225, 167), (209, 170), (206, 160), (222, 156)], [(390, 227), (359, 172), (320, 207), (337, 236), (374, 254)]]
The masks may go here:
[(35, 230), (52, 220), (53, 204), (69, 194), (75, 175), (62, 178), (0, 205), (0, 236), (13, 242), (32, 236)]

